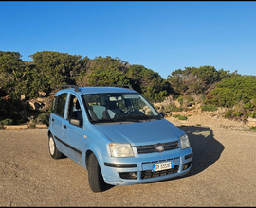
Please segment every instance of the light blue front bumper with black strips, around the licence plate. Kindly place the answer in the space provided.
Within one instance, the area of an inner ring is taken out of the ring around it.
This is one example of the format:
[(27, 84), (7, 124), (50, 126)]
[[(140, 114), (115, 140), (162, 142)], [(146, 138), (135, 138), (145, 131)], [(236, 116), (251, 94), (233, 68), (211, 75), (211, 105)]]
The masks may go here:
[[(174, 168), (152, 171), (154, 164), (168, 161), (173, 161)], [(141, 154), (131, 158), (113, 158), (101, 155), (100, 163), (102, 176), (106, 183), (131, 185), (157, 182), (187, 174), (192, 166), (192, 148)], [(135, 174), (137, 177), (135, 177)]]

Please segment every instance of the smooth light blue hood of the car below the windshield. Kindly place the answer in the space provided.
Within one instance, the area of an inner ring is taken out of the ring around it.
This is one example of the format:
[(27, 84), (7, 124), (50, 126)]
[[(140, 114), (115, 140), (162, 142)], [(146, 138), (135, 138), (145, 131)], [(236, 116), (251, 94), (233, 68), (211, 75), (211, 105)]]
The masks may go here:
[(178, 140), (185, 132), (166, 119), (119, 124), (95, 125), (115, 143), (130, 143), (132, 146), (150, 145)]

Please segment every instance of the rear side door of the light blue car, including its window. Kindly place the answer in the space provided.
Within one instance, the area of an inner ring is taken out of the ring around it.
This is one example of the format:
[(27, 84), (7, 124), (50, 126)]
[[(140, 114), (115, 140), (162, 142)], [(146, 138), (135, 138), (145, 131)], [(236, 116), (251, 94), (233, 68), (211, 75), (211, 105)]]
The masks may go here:
[(64, 111), (67, 100), (67, 93), (54, 97), (53, 112), (51, 113), (51, 130), (55, 139), (56, 146), (63, 150), (63, 123)]

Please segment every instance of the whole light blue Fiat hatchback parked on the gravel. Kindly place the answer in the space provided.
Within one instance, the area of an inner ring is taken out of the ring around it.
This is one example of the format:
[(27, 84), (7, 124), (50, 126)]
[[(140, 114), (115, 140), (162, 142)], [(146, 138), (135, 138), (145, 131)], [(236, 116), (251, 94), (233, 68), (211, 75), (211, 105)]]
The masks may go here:
[(187, 174), (192, 148), (183, 130), (164, 119), (130, 85), (64, 85), (49, 118), (52, 158), (63, 154), (88, 170), (93, 192), (111, 185), (157, 182)]

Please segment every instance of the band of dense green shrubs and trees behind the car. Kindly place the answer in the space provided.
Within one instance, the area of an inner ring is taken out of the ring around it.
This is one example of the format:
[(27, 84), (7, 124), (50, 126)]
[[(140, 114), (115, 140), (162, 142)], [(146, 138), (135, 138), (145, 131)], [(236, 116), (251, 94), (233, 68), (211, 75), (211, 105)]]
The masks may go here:
[[(232, 108), (240, 102), (240, 109), (230, 110), (228, 117), (256, 116), (256, 77), (242, 76), (236, 71), (229, 73), (207, 65), (185, 67), (184, 70), (174, 70), (164, 79), (143, 65), (109, 56), (89, 59), (42, 51), (32, 54), (32, 61), (22, 61), (21, 57), (19, 52), (0, 51), (0, 123), (4, 125), (26, 123), (31, 117), (36, 124), (48, 124), (51, 107), (28, 112), (27, 103), (37, 99), (42, 92), (51, 103), (53, 95), (65, 84), (130, 84), (151, 102), (161, 102), (173, 95), (185, 107), (195, 104), (192, 95), (202, 95), (205, 103), (203, 111), (212, 111), (213, 106)], [(21, 99), (21, 95), (25, 98)], [(175, 106), (166, 109), (182, 110)]]

